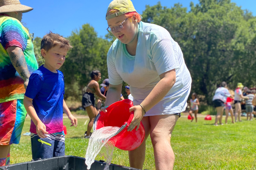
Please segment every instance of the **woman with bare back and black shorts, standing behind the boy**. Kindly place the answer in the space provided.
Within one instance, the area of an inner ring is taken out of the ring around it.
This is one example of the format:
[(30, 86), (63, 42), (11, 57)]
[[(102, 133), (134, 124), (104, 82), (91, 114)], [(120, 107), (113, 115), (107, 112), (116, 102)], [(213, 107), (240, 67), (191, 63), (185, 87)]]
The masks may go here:
[(100, 92), (100, 87), (98, 81), (101, 79), (101, 73), (98, 70), (94, 70), (91, 73), (91, 80), (87, 85), (87, 88), (85, 90), (85, 93), (82, 98), (82, 107), (86, 109), (87, 114), (90, 118), (90, 121), (87, 125), (87, 131), (85, 132), (85, 138), (90, 138), (90, 132), (92, 130), (93, 121), (95, 117), (98, 115), (98, 111), (95, 107), (95, 99), (94, 94), (102, 98), (103, 100), (106, 99), (106, 97)]

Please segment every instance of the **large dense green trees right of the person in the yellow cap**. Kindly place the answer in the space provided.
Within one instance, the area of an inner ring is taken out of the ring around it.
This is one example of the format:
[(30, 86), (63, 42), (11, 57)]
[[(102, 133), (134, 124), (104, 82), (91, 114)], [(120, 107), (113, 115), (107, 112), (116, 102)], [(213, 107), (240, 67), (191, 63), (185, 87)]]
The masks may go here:
[[(191, 73), (191, 92), (211, 103), (222, 81), (255, 85), (255, 17), (230, 0), (200, 0), (191, 11), (181, 4), (172, 8), (146, 6), (142, 21), (166, 28), (183, 51)], [(245, 57), (246, 56), (246, 57)]]

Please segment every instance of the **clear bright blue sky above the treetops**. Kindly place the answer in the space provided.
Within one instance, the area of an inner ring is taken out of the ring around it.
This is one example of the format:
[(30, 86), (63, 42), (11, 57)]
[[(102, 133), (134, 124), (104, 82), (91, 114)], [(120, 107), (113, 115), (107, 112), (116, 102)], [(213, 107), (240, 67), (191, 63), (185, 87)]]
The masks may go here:
[[(187, 7), (192, 1), (198, 4), (198, 0), (133, 0), (134, 8), (139, 14), (145, 10), (146, 5), (156, 5), (161, 2), (162, 6), (171, 8), (175, 3)], [(242, 9), (248, 9), (256, 15), (255, 0), (231, 0)], [(51, 30), (64, 37), (71, 35), (75, 29), (81, 28), (83, 24), (90, 24), (98, 36), (107, 34), (107, 21), (105, 14), (111, 0), (20, 0), (21, 4), (34, 8), (23, 14), (22, 22), (29, 28), (34, 36), (43, 37)]]

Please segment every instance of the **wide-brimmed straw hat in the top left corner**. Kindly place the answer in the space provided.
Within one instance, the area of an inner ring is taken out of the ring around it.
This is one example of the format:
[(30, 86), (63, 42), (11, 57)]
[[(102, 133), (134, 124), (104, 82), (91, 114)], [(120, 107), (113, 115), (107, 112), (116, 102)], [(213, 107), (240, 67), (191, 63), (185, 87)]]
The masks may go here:
[(19, 0), (0, 0), (0, 13), (22, 11), (26, 13), (33, 8), (25, 5), (21, 5)]

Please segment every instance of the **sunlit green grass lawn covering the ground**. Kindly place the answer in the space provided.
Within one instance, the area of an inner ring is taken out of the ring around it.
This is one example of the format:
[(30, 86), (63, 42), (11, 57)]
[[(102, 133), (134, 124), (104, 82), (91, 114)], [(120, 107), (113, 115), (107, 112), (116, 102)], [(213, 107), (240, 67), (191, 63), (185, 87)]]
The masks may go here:
[[(256, 120), (227, 125), (213, 126), (213, 120), (198, 118), (198, 123), (190, 122), (187, 116), (179, 118), (171, 138), (175, 154), (174, 169), (256, 169)], [(225, 122), (225, 117), (223, 121)], [(76, 128), (64, 118), (67, 126), (66, 155), (85, 157), (88, 139), (83, 138), (87, 129), (86, 118), (78, 119)], [(26, 119), (23, 132), (28, 132), (30, 119)], [(30, 136), (21, 136), (20, 144), (11, 146), (11, 164), (31, 161)], [(97, 156), (96, 160), (104, 160)], [(129, 166), (128, 152), (115, 148), (112, 163)], [(155, 169), (154, 153), (150, 138), (147, 139), (144, 169)]]

